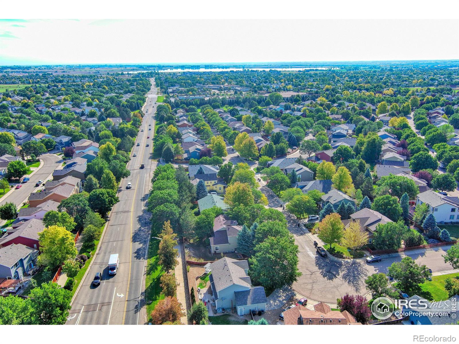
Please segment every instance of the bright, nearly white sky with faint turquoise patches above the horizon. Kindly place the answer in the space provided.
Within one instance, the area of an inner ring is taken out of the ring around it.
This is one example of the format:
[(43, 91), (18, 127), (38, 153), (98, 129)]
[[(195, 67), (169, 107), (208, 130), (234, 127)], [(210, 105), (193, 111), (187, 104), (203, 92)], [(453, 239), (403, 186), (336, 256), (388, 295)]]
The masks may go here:
[(0, 65), (449, 60), (457, 32), (455, 19), (0, 19)]

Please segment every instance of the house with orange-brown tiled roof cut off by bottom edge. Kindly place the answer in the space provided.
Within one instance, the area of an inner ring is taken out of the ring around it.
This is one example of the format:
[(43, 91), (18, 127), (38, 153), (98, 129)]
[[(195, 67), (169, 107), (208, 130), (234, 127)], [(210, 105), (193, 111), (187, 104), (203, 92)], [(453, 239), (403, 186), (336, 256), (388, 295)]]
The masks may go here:
[(284, 325), (361, 325), (348, 311), (332, 311), (320, 302), (310, 310), (297, 305), (283, 312)]

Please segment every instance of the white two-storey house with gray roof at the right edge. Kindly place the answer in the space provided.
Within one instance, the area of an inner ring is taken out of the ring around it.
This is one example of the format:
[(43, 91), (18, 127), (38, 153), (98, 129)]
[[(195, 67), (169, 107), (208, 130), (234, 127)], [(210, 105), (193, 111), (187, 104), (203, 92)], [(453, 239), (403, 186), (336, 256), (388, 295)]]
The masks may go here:
[(459, 222), (459, 198), (443, 196), (433, 190), (418, 194), (416, 205), (425, 203), (428, 213), (433, 214), (437, 223)]

